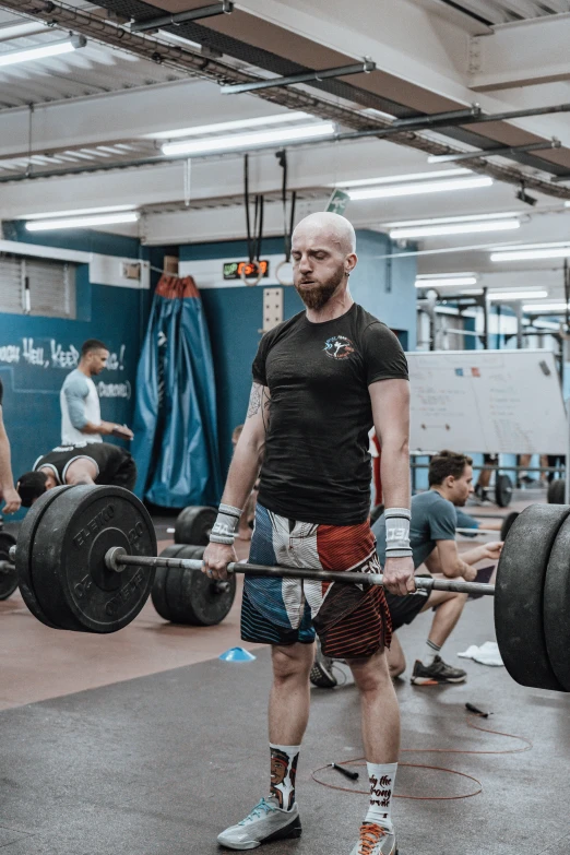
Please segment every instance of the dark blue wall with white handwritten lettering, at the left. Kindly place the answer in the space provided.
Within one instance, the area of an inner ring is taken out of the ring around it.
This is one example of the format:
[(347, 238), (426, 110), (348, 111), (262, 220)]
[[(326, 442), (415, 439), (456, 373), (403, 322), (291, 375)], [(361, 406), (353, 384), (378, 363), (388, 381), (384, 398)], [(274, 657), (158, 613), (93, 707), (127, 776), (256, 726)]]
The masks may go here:
[[(109, 256), (143, 258), (138, 240), (115, 235), (74, 233), (41, 236), (22, 233), (20, 224), (4, 224), (4, 238)], [(40, 237), (40, 239), (38, 239)], [(159, 253), (153, 263), (161, 266)], [(75, 367), (85, 339), (102, 339), (111, 351), (110, 368), (95, 383), (100, 387), (104, 419), (132, 420), (134, 378), (146, 329), (152, 290), (121, 288), (90, 282), (88, 265), (76, 270), (78, 320), (0, 313), (0, 379), (4, 385), (3, 415), (12, 448), (14, 477), (61, 440), (59, 391)], [(3, 349), (12, 345), (11, 351)], [(118, 441), (118, 440), (117, 440)]]

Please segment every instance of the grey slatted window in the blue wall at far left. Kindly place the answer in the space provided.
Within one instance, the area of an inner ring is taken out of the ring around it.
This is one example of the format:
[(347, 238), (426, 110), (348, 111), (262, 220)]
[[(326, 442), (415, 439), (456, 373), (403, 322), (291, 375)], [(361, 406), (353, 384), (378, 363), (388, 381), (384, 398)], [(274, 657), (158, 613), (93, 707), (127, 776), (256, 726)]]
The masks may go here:
[(74, 265), (0, 254), (0, 312), (76, 318)]

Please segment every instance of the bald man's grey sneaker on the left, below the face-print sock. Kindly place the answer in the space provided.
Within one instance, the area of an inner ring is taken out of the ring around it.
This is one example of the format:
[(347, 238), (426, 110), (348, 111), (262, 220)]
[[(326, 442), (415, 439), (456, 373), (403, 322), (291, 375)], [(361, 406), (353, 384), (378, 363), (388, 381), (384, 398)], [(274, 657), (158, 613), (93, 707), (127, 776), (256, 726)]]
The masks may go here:
[(262, 798), (237, 826), (230, 826), (218, 834), (217, 842), (228, 850), (254, 850), (272, 840), (300, 838), (300, 835), (301, 824), (297, 803), (290, 810), (281, 810), (276, 799), (270, 796), (270, 798)]

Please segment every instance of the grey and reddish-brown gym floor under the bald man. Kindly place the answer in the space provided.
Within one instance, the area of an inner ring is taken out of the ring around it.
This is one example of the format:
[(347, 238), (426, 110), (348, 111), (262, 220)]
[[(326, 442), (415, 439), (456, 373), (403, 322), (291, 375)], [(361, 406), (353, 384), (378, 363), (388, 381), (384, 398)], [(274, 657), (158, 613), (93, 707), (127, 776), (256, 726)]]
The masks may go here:
[[(509, 511), (537, 498), (519, 494)], [(162, 521), (157, 532), (164, 537)], [(245, 557), (248, 544), (239, 549)], [(38, 624), (17, 594), (0, 604), (0, 848), (7, 855), (218, 852), (216, 834), (268, 788), (269, 651), (245, 645), (257, 655), (251, 663), (217, 658), (240, 643), (239, 595), (226, 620), (211, 628), (167, 625), (147, 605), (119, 633), (72, 637)], [(421, 615), (401, 630), (408, 666), (429, 620)], [(403, 748), (420, 749), (404, 753), (402, 763), (443, 767), (483, 784), (474, 797), (431, 800), (467, 795), (478, 784), (401, 765), (396, 795), (423, 799), (396, 799), (401, 855), (570, 854), (569, 699), (524, 689), (503, 668), (456, 658), (494, 638), (491, 601), (471, 603), (444, 651), (466, 668), (467, 682), (423, 689), (396, 682)], [(312, 689), (298, 774), (304, 835), (270, 844), (268, 853), (347, 855), (354, 845), (366, 796), (311, 779), (319, 767), (361, 755), (356, 690), (339, 667), (347, 678), (342, 687)], [(492, 715), (467, 715), (466, 702)], [(532, 750), (501, 753), (525, 744), (479, 733), (467, 721), (530, 739)], [(447, 750), (427, 752), (437, 748)], [(328, 783), (358, 787), (333, 770), (321, 774)]]

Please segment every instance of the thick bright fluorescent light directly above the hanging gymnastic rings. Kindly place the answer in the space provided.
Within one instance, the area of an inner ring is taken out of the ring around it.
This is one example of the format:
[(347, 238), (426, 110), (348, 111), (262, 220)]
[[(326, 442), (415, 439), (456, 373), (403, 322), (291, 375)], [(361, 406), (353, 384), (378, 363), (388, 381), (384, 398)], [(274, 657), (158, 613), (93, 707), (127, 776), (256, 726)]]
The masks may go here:
[(215, 152), (238, 151), (251, 149), (256, 145), (283, 145), (297, 140), (314, 140), (320, 136), (332, 136), (334, 133), (332, 122), (319, 122), (318, 124), (301, 124), (298, 128), (280, 128), (275, 131), (257, 131), (253, 133), (233, 133), (227, 136), (209, 136), (203, 140), (185, 140), (179, 143), (166, 143), (163, 153), (168, 155), (213, 154)]

